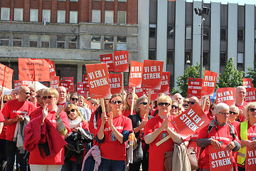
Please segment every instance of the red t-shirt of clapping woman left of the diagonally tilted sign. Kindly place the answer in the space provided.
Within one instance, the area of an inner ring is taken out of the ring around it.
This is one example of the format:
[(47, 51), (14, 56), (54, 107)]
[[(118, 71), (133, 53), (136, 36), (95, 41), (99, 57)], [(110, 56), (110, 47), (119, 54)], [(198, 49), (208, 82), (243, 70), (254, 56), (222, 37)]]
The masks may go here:
[[(171, 120), (174, 119), (174, 116), (171, 115)], [(164, 119), (161, 119), (160, 116), (151, 118), (145, 126), (145, 135), (154, 133), (154, 131), (160, 128), (161, 124), (164, 122)], [(169, 127), (172, 128), (171, 122)], [(165, 171), (164, 168), (164, 155), (165, 152), (174, 150), (173, 145), (174, 141), (169, 138), (163, 142), (159, 147), (156, 146), (156, 143), (165, 138), (168, 135), (166, 130), (163, 130), (157, 138), (149, 144), (149, 171)]]

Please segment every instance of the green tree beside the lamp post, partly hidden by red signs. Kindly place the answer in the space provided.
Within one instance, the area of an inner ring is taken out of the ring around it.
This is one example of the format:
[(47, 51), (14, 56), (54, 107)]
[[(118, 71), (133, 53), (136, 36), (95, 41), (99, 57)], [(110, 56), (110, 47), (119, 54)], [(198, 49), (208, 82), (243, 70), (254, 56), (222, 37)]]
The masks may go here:
[[(204, 74), (205, 68), (203, 68), (203, 74)], [(171, 90), (172, 94), (175, 93), (181, 93), (183, 97), (187, 96), (188, 92), (188, 78), (200, 78), (200, 64), (196, 63), (196, 66), (188, 66), (186, 70), (184, 71), (184, 75), (178, 76), (177, 78), (177, 86), (178, 89), (173, 88)]]

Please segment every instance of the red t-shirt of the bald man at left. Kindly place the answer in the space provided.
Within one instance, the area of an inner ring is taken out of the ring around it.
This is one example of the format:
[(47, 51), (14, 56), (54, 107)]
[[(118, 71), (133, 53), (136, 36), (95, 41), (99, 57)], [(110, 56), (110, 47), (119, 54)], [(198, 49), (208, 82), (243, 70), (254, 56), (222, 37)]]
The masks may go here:
[[(17, 115), (30, 115), (35, 109), (35, 104), (28, 100), (21, 103), (17, 99), (14, 99), (8, 101), (6, 105), (4, 105), (2, 113), (6, 118), (14, 119)], [(16, 128), (16, 124), (17, 122), (12, 123), (11, 125), (7, 125), (6, 140), (14, 140), (14, 131)]]

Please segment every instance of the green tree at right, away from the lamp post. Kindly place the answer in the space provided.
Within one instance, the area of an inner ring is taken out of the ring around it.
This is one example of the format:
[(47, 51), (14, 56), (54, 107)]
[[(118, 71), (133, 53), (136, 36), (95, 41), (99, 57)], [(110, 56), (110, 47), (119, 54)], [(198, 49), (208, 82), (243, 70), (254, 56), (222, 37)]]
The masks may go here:
[(220, 73), (217, 85), (219, 88), (242, 86), (244, 73), (244, 71), (238, 71), (238, 69), (235, 68), (233, 58), (230, 58), (227, 62), (224, 73)]

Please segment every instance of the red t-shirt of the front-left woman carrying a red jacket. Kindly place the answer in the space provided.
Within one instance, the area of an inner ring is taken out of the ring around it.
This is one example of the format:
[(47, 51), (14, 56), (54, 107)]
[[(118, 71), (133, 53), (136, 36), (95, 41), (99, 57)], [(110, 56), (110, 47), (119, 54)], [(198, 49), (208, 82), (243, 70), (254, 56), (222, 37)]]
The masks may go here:
[[(33, 113), (31, 113), (30, 118), (33, 120), (33, 118), (37, 118), (38, 116), (43, 115), (42, 113), (43, 108), (40, 108), (38, 110), (35, 110)], [(53, 124), (53, 126), (56, 128), (56, 120), (55, 120), (55, 110), (48, 112), (48, 115), (46, 118), (50, 120), (50, 123)], [(68, 132), (70, 132), (70, 126), (68, 122), (68, 115), (64, 111), (60, 113), (60, 118), (63, 121), (65, 128), (68, 129)], [(40, 152), (38, 150), (38, 147), (36, 147), (33, 152), (30, 152), (28, 164), (29, 165), (63, 165), (64, 164), (64, 147), (58, 152), (57, 155), (54, 157), (47, 157), (46, 159), (43, 159), (41, 157)]]

